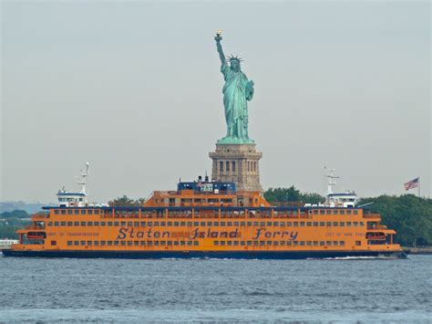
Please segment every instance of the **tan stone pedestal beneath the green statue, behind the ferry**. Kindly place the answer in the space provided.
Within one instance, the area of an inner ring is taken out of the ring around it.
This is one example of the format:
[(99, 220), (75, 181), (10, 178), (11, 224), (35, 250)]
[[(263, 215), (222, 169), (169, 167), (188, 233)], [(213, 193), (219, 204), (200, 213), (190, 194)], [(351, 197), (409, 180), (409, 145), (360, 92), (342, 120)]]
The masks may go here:
[(262, 193), (259, 161), (262, 152), (257, 152), (254, 143), (217, 143), (216, 151), (210, 152), (213, 160), (211, 179), (235, 183), (239, 191)]

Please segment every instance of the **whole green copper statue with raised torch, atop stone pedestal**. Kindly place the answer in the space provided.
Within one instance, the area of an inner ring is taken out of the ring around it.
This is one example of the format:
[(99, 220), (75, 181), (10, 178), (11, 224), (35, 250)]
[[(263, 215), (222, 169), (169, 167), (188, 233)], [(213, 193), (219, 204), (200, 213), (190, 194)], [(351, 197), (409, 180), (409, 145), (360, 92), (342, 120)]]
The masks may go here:
[(253, 143), (248, 135), (248, 101), (253, 98), (253, 81), (248, 80), (240, 68), (240, 57), (227, 58), (222, 51), (221, 31), (216, 34), (214, 40), (221, 58), (221, 72), (225, 84), (223, 86), (223, 106), (225, 108), (225, 120), (227, 122), (227, 136), (219, 140), (219, 144)]

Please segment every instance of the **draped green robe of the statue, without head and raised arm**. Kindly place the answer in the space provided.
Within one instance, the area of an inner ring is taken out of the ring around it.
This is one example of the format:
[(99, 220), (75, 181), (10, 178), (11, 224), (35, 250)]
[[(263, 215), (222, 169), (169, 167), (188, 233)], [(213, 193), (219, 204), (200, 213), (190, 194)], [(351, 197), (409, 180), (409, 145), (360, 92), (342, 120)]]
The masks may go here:
[(248, 103), (253, 96), (251, 83), (242, 72), (232, 70), (228, 64), (221, 66), (225, 80), (223, 86), (223, 106), (227, 122), (227, 137), (248, 139)]

